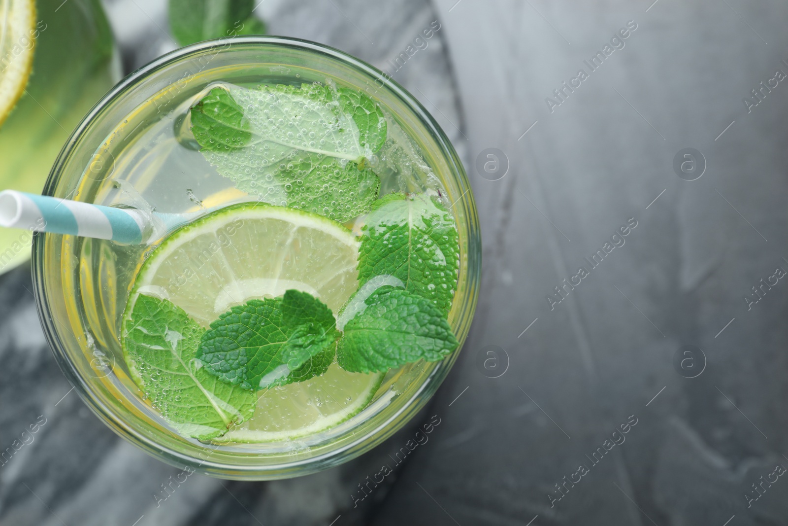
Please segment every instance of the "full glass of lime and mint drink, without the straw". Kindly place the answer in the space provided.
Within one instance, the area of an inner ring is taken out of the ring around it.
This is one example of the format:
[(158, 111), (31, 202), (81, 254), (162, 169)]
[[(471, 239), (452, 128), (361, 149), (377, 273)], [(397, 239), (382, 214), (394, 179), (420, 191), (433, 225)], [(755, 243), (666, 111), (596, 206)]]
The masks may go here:
[(45, 193), (150, 219), (139, 244), (36, 233), (33, 274), (77, 392), (170, 464), (279, 479), (348, 461), (424, 407), (470, 329), (481, 242), (454, 148), (320, 44), (159, 58), (87, 115)]

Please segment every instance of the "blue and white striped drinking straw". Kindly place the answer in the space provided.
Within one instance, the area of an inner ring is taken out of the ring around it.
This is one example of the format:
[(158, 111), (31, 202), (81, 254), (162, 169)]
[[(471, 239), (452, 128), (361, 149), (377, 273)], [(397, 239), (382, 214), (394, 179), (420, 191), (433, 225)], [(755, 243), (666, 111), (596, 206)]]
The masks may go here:
[(16, 190), (0, 192), (0, 226), (125, 244), (145, 243), (154, 235), (160, 237), (165, 231), (188, 222), (191, 216), (104, 207)]

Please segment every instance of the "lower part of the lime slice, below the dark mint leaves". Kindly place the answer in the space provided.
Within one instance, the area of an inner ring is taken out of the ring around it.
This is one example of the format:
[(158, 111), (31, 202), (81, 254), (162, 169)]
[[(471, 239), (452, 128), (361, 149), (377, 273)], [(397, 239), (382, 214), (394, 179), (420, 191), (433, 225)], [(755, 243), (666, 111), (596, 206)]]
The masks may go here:
[(324, 375), (264, 390), (251, 419), (214, 442), (282, 442), (325, 431), (369, 405), (383, 376), (331, 364)]

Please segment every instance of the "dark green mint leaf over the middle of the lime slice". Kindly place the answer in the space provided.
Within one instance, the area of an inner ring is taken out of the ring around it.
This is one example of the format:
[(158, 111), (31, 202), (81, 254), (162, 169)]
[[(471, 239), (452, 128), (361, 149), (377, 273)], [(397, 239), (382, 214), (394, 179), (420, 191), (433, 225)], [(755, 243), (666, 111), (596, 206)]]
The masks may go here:
[(250, 300), (221, 315), (203, 335), (197, 357), (222, 382), (261, 390), (321, 375), (333, 361), (336, 322), (308, 293)]

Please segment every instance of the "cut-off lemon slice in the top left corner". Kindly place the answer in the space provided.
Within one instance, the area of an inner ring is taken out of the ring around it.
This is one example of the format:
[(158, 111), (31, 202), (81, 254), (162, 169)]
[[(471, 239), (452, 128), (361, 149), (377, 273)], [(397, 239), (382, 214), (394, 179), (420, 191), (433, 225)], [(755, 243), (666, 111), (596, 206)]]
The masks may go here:
[(0, 125), (28, 84), (34, 32), (33, 0), (0, 0)]

